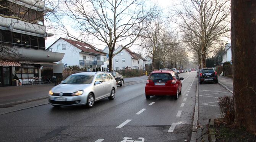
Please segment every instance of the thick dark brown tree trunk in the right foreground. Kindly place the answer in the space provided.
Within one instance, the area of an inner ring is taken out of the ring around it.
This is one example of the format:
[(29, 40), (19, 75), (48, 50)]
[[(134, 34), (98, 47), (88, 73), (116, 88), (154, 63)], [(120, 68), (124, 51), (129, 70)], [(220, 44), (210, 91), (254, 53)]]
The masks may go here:
[(235, 127), (256, 133), (255, 0), (231, 0), (231, 48)]

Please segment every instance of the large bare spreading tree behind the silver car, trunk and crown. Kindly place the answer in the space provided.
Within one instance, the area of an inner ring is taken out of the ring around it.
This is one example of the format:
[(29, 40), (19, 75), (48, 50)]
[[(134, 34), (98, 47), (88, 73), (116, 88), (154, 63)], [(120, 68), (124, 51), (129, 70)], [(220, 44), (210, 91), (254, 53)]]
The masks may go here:
[[(85, 42), (85, 38), (92, 36), (105, 43), (109, 48), (110, 71), (113, 56), (133, 45), (150, 24), (156, 9), (140, 0), (60, 0), (60, 5), (52, 27), (76, 41)], [(72, 30), (63, 19), (73, 22)], [(73, 30), (78, 34), (72, 34)], [(118, 43), (122, 43), (122, 49), (114, 53)]]

